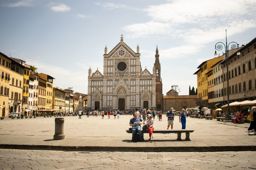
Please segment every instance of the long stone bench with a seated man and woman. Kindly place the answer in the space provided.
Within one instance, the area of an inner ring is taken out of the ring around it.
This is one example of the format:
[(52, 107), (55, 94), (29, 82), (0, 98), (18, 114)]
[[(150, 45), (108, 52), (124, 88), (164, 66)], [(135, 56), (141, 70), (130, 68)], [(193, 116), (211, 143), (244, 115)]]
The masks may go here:
[[(180, 129), (180, 130), (153, 130), (153, 134), (155, 133), (177, 133), (177, 140), (181, 140), (181, 133), (186, 133), (185, 140), (190, 140), (189, 133), (192, 133), (194, 130)], [(131, 130), (126, 130), (127, 133), (132, 133)], [(148, 130), (141, 130), (141, 137), (144, 140), (144, 133), (148, 133)]]

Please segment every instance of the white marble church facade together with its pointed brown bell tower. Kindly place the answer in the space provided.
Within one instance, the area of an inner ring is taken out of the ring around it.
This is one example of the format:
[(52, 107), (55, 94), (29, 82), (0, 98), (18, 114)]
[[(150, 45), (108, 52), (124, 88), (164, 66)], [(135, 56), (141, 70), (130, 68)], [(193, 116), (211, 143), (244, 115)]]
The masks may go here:
[(134, 52), (121, 41), (108, 53), (105, 47), (103, 73), (88, 72), (88, 110), (134, 110), (163, 107), (161, 65), (158, 49), (152, 73), (140, 64), (139, 45)]

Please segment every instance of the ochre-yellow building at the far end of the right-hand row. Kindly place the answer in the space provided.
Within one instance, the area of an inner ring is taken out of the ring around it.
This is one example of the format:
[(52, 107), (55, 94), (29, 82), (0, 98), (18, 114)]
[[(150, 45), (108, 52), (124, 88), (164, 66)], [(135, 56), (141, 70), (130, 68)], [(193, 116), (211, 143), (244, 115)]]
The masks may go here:
[(200, 107), (208, 107), (208, 75), (207, 73), (210, 70), (213, 70), (211, 66), (213, 66), (216, 62), (222, 60), (222, 56), (212, 58), (210, 60), (202, 62), (197, 68), (198, 70), (194, 73), (197, 75), (197, 98), (195, 101), (197, 106)]

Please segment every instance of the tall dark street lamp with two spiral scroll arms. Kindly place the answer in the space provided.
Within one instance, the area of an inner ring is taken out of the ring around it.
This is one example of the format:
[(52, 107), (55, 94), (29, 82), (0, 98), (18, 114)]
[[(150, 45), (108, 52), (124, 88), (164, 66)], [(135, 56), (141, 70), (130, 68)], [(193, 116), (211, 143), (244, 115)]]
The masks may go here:
[[(228, 47), (229, 47), (230, 44), (231, 44), (231, 46), (230, 46), (231, 49), (238, 49), (238, 47), (239, 47), (239, 44), (236, 43), (236, 42), (230, 42), (229, 44), (227, 43), (227, 29), (226, 29), (226, 45), (223, 42), (217, 42), (215, 44), (215, 53), (214, 53), (214, 55), (218, 55), (216, 50), (218, 50), (218, 51), (222, 50), (223, 45), (224, 45), (224, 47), (225, 47), (225, 60), (226, 60), (226, 65), (227, 65), (227, 96), (228, 96), (228, 99), (227, 99), (227, 102), (228, 102), (227, 115), (226, 115), (225, 120), (231, 120), (231, 118), (230, 118), (230, 106), (229, 106), (229, 73), (228, 73), (228, 60), (229, 60)], [(239, 49), (238, 49), (238, 52), (236, 54), (237, 55), (241, 54), (239, 52)]]

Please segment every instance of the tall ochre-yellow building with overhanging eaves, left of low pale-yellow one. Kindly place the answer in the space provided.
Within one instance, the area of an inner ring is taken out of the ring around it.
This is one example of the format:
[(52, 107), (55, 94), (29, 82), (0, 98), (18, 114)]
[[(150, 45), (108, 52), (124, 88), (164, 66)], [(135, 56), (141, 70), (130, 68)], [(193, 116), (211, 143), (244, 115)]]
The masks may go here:
[[(52, 109), (52, 93), (53, 93), (53, 77), (44, 73), (39, 73), (39, 83), (40, 80), (43, 83), (41, 86), (42, 87), (42, 91), (43, 94), (41, 94), (42, 96), (42, 100), (44, 100), (44, 109)], [(40, 88), (40, 85), (39, 85)], [(40, 103), (41, 103), (41, 99), (40, 99)]]

